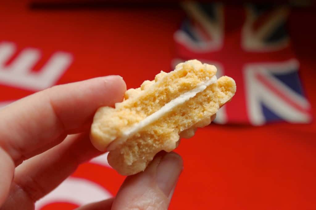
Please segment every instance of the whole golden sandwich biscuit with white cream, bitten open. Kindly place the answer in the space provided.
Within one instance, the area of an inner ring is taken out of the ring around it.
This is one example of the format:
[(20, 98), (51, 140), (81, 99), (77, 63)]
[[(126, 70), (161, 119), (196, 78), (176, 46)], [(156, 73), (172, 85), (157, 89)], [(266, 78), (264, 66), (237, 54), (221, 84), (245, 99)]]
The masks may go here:
[(189, 60), (127, 90), (115, 108), (95, 113), (92, 144), (110, 151), (108, 162), (120, 174), (143, 171), (159, 151), (172, 151), (180, 138), (191, 138), (197, 128), (210, 124), (211, 116), (234, 96), (235, 81), (215, 74), (215, 66)]

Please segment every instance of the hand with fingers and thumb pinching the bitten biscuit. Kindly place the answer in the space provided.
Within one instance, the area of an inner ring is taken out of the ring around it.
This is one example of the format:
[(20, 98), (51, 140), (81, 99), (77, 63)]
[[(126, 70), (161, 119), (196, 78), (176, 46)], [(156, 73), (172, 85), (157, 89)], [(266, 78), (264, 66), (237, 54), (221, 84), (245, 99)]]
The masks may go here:
[[(122, 101), (125, 90), (119, 76), (98, 77), (58, 85), (1, 109), (0, 209), (34, 209), (80, 163), (100, 155), (88, 134), (94, 112)], [(144, 172), (125, 179), (115, 198), (78, 209), (167, 209), (182, 167), (176, 153), (158, 153)]]

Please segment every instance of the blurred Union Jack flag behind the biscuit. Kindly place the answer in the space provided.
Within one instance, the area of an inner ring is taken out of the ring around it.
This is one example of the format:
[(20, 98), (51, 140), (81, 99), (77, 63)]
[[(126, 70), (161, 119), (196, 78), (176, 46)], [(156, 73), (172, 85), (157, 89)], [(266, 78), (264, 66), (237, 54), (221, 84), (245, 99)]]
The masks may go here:
[(175, 32), (178, 58), (217, 66), (217, 76), (233, 77), (237, 92), (217, 123), (311, 121), (310, 104), (299, 77), (299, 62), (285, 25), (289, 8), (247, 4), (182, 4), (188, 18)]

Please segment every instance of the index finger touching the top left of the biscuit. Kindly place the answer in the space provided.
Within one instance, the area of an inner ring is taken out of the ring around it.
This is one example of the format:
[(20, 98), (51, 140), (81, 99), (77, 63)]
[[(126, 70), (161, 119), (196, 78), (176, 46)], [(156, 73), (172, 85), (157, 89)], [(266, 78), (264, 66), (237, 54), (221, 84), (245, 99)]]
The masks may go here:
[(0, 110), (0, 147), (16, 164), (90, 122), (100, 106), (122, 101), (125, 91), (122, 77), (108, 76), (58, 85), (18, 100)]

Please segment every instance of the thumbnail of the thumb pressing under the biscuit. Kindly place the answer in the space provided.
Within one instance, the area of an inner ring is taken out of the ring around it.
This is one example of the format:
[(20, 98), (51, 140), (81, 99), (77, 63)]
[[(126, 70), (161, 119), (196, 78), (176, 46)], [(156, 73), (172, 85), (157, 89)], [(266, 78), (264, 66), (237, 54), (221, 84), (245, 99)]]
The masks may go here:
[(156, 169), (156, 183), (167, 197), (177, 184), (182, 168), (182, 158), (174, 152), (167, 153), (161, 158)]

